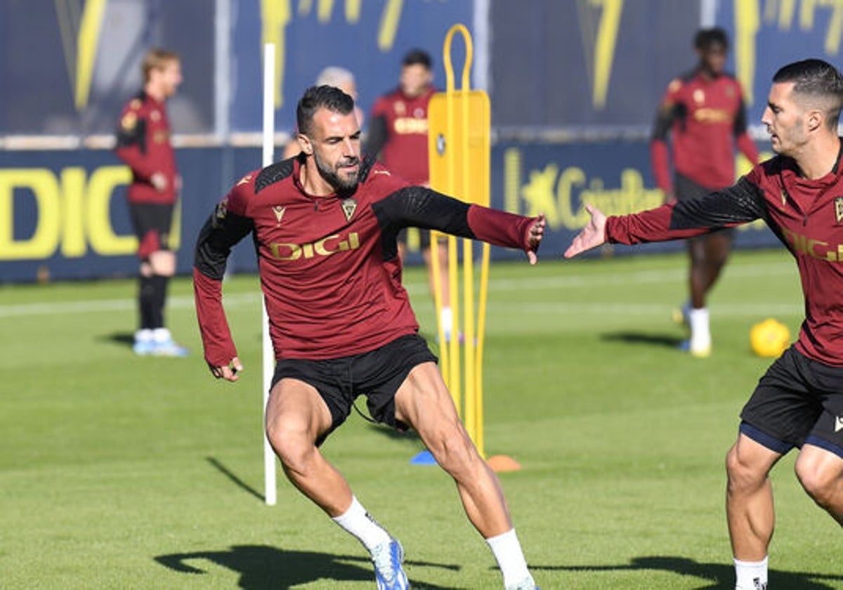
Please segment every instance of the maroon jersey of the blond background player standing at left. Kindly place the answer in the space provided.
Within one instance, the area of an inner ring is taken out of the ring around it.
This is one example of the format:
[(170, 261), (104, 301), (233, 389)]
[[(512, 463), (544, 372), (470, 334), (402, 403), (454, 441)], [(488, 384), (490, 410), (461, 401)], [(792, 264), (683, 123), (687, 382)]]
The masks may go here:
[[(169, 137), (169, 119), (164, 102), (142, 92), (123, 108), (117, 127), (115, 153), (132, 169), (129, 202), (175, 203), (178, 170)], [(156, 172), (164, 174), (167, 180), (165, 190), (156, 190), (150, 182)]]

